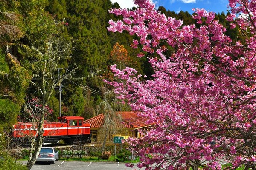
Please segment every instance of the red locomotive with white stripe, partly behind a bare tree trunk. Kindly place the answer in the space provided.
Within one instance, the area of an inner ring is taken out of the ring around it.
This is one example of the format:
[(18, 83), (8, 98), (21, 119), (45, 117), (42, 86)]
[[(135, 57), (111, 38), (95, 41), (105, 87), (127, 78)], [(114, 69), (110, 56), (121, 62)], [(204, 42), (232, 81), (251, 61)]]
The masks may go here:
[[(44, 123), (44, 143), (56, 143), (64, 140), (67, 144), (73, 142), (90, 143), (90, 124), (83, 122), (80, 116), (63, 116), (59, 122)], [(35, 136), (36, 129), (32, 123), (18, 123), (14, 125), (13, 137), (16, 141), (21, 141), (29, 136)]]

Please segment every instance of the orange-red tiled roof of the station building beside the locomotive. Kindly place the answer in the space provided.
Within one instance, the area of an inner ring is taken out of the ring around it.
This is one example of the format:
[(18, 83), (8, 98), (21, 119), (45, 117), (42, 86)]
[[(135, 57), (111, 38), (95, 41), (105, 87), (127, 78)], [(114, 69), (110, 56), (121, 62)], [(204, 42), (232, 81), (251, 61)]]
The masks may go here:
[[(116, 122), (119, 127), (125, 126), (126, 128), (138, 129), (141, 127), (150, 126), (145, 124), (145, 119), (138, 116), (136, 111), (118, 111), (116, 114), (120, 115), (123, 121), (123, 124)], [(104, 124), (104, 114), (100, 114), (88, 120), (85, 120), (84, 123), (90, 123), (91, 128), (100, 128)]]

